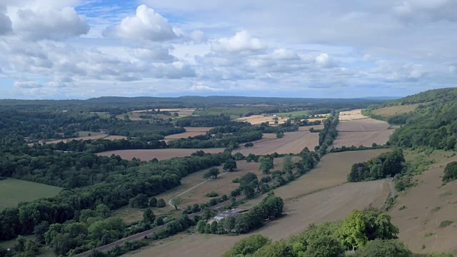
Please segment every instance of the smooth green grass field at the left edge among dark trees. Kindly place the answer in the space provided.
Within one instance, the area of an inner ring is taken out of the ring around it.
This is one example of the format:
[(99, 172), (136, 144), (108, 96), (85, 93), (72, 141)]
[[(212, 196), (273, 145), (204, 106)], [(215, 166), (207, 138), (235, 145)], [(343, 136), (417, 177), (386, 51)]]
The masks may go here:
[(56, 196), (61, 190), (62, 188), (57, 186), (6, 178), (0, 181), (0, 210), (6, 207), (16, 207), (23, 201)]

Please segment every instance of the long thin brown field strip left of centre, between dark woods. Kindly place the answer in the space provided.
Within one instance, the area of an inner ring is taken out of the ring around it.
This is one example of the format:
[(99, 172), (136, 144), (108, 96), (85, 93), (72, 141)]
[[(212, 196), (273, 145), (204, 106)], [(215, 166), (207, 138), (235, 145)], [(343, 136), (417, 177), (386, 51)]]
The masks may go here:
[(141, 161), (151, 161), (157, 158), (159, 161), (167, 160), (174, 157), (190, 156), (191, 153), (202, 150), (205, 153), (221, 153), (225, 148), (205, 148), (205, 149), (141, 149), (141, 150), (116, 150), (104, 151), (97, 153), (99, 156), (111, 156), (111, 154), (119, 155), (121, 158), (131, 160), (132, 158), (139, 158)]

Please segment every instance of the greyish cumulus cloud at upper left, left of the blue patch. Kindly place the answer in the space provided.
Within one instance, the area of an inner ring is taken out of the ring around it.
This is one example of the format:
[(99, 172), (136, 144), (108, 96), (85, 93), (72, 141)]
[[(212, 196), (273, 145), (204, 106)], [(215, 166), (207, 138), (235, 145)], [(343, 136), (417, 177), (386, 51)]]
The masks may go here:
[(62, 40), (89, 32), (89, 25), (73, 7), (62, 9), (19, 9), (11, 16), (13, 30), (26, 39)]

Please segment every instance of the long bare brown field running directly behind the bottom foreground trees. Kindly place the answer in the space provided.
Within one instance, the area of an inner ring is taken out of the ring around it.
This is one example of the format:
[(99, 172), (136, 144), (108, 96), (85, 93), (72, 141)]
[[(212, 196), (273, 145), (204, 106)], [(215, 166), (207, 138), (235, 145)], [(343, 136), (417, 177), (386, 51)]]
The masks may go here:
[[(268, 223), (252, 233), (260, 233), (273, 240), (288, 238), (306, 229), (311, 223), (336, 221), (345, 218), (353, 209), (378, 206), (388, 192), (386, 181), (346, 183), (301, 198), (286, 201), (286, 216)], [(361, 197), (363, 196), (363, 197)], [(252, 234), (251, 233), (251, 234)], [(228, 251), (241, 236), (184, 235), (173, 236), (153, 243), (129, 256), (220, 256)], [(217, 247), (215, 247), (217, 246)]]

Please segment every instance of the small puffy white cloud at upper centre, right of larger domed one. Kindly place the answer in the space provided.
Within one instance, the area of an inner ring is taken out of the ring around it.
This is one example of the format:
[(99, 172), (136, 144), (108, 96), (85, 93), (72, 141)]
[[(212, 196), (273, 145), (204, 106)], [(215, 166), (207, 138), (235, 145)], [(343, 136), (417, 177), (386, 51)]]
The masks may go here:
[(213, 42), (211, 50), (218, 52), (258, 51), (266, 48), (260, 39), (253, 38), (248, 31), (240, 31), (231, 38), (222, 38)]

